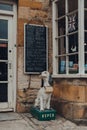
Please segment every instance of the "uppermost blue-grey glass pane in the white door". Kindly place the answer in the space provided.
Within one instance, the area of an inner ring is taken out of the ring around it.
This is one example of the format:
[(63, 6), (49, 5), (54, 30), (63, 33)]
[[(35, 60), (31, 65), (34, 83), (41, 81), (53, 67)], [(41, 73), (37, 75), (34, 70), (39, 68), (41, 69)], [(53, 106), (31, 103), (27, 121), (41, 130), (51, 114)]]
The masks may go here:
[(8, 39), (8, 21), (0, 19), (0, 39)]

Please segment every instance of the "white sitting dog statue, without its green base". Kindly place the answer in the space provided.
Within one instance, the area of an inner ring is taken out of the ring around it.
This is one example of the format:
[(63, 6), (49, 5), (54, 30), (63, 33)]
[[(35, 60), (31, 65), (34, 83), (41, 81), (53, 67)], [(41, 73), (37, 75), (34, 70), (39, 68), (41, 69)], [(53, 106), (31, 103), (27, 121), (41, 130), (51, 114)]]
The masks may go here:
[[(43, 80), (43, 86), (40, 88), (35, 99), (35, 107), (39, 107), (41, 111), (50, 109), (51, 95), (53, 87), (49, 84), (49, 72), (43, 71), (40, 75)], [(48, 90), (47, 90), (48, 88)]]

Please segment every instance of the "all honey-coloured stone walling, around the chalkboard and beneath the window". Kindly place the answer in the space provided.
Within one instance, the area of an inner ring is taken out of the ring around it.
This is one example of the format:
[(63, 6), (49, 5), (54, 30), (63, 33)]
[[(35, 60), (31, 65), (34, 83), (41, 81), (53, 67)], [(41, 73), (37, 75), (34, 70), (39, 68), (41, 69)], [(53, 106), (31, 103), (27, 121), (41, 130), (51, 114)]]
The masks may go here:
[[(48, 27), (48, 71), (52, 73), (51, 0), (18, 0), (17, 11), (17, 112), (28, 112), (41, 87), (39, 75), (24, 73), (24, 24)], [(87, 119), (87, 79), (53, 78), (51, 105), (70, 120)]]

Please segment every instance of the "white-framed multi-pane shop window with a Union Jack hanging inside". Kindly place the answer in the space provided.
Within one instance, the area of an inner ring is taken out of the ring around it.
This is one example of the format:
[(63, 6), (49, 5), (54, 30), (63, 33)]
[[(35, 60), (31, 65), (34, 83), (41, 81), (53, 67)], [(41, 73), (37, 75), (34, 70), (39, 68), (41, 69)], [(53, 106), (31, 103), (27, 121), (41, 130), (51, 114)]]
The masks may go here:
[(87, 0), (54, 0), (53, 73), (65, 76), (86, 74), (86, 44)]

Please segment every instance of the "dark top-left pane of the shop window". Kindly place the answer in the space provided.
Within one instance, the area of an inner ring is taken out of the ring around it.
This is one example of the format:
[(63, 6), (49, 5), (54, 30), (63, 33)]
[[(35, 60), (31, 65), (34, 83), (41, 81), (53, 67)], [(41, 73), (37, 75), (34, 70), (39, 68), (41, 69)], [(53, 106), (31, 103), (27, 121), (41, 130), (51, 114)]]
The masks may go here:
[(65, 15), (65, 0), (58, 0), (58, 17)]

